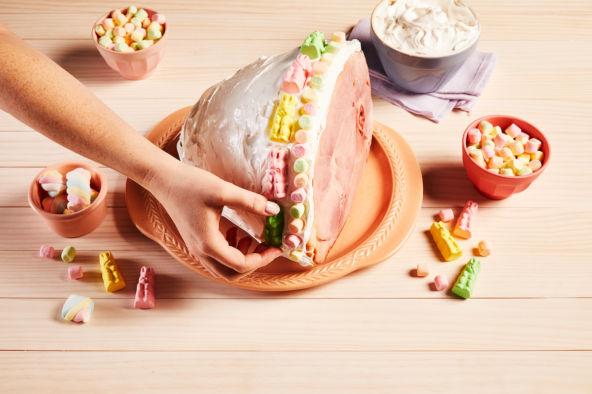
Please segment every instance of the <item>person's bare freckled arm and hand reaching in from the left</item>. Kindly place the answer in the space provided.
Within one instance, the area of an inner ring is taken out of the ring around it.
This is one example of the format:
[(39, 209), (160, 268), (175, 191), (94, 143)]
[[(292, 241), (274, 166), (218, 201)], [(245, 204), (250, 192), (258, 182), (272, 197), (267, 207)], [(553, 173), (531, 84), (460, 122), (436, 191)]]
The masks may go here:
[(218, 230), (223, 206), (270, 216), (277, 204), (166, 154), (1, 22), (0, 109), (149, 190), (213, 275), (236, 280), (281, 254), (270, 248), (243, 255)]

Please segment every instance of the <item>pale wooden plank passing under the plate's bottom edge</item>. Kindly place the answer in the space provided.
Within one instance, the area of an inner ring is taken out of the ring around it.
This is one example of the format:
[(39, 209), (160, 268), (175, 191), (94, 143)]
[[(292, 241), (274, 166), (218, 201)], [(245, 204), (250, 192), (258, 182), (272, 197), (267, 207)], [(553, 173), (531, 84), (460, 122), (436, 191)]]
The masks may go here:
[[(0, 265), (0, 298), (67, 298), (70, 294), (84, 294), (91, 298), (133, 299), (142, 266), (152, 266), (156, 271), (158, 303), (168, 298), (456, 298), (450, 288), (435, 291), (433, 278), (443, 274), (452, 286), (468, 259), (477, 254), (469, 247), (462, 258), (442, 263), (431, 250), (417, 251), (404, 246), (385, 262), (322, 286), (260, 292), (210, 281), (190, 271), (165, 250), (116, 250), (113, 255), (126, 280), (126, 288), (107, 294), (98, 256), (109, 246), (104, 245), (103, 250), (78, 250), (75, 261), (69, 264), (59, 256), (67, 242), (76, 245), (72, 240), (50, 244), (56, 248), (52, 260), (40, 258), (38, 250), (0, 251), (0, 261), (18, 262)], [(503, 244), (494, 243), (491, 256), (477, 256), (482, 270), (473, 298), (590, 298), (589, 254), (590, 250), (574, 251), (568, 256), (559, 250), (510, 251)], [(419, 262), (429, 262), (429, 276), (417, 277)], [(72, 265), (82, 266), (82, 279), (69, 278), (67, 268)]]

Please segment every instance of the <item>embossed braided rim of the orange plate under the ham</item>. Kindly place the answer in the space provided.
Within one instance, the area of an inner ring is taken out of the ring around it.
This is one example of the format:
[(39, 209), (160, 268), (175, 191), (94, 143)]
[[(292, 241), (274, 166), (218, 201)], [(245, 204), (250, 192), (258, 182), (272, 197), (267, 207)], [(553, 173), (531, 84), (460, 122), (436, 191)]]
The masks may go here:
[[(167, 119), (173, 115), (177, 115), (178, 118), (173, 121), (172, 125), (170, 125), (166, 131), (162, 133), (162, 135), (160, 135), (160, 133), (159, 135), (155, 135), (153, 132), (150, 132), (147, 138), (150, 139), (150, 141), (156, 139), (156, 141), (153, 141), (153, 143), (160, 149), (164, 149), (169, 144), (170, 140), (175, 138), (181, 131), (181, 127), (185, 122), (188, 110), (189, 108), (185, 108), (173, 113), (172, 115), (169, 115), (169, 117), (165, 118), (163, 122), (167, 121)], [(155, 131), (157, 128), (155, 128), (153, 131)], [(210, 273), (207, 272), (205, 268), (203, 268), (200, 261), (197, 258), (194, 258), (191, 253), (189, 253), (189, 250), (186, 248), (185, 243), (178, 235), (176, 229), (174, 231), (170, 229), (169, 224), (163, 220), (163, 217), (168, 216), (168, 214), (163, 209), (162, 205), (156, 200), (152, 193), (146, 189), (141, 188), (141, 199), (143, 201), (144, 207), (146, 207), (146, 219), (148, 219), (150, 222), (150, 230), (153, 231), (143, 229), (142, 226), (139, 225), (139, 223), (141, 224), (141, 221), (134, 220), (134, 216), (131, 213), (130, 217), (141, 232), (162, 245), (163, 248), (168, 250), (168, 252), (179, 262), (184, 263), (186, 266), (191, 268), (192, 271), (200, 273), (202, 276), (223, 284), (263, 291), (284, 291), (308, 288), (333, 281), (334, 279), (340, 278), (349, 272), (364, 268), (369, 265), (377, 264), (392, 256), (395, 252), (397, 252), (398, 249), (401, 248), (401, 246), (403, 246), (404, 242), (407, 240), (407, 237), (413, 230), (417, 216), (419, 215), (419, 209), (417, 209), (417, 211), (414, 213), (412, 225), (410, 226), (410, 229), (407, 229), (408, 233), (404, 235), (402, 242), (400, 242), (398, 245), (395, 245), (395, 247), (391, 250), (380, 250), (380, 253), (377, 253), (377, 251), (381, 249), (381, 246), (384, 246), (385, 241), (392, 235), (392, 232), (397, 226), (403, 210), (407, 209), (409, 205), (407, 188), (408, 175), (406, 169), (404, 168), (403, 160), (401, 159), (401, 155), (397, 149), (397, 146), (395, 146), (395, 144), (392, 142), (392, 139), (388, 133), (384, 131), (384, 128), (385, 126), (378, 122), (374, 122), (372, 132), (373, 138), (375, 139), (373, 144), (378, 142), (378, 144), (381, 145), (382, 150), (388, 157), (388, 162), (390, 165), (390, 177), (392, 178), (392, 184), (394, 187), (391, 191), (388, 211), (382, 217), (377, 229), (375, 229), (374, 232), (372, 232), (372, 234), (367, 237), (361, 246), (335, 261), (325, 262), (321, 265), (314, 266), (314, 268), (308, 269), (307, 271), (279, 274), (253, 272), (236, 282), (226, 282), (224, 279), (218, 279), (211, 276)], [(408, 148), (410, 149), (410, 147)], [(417, 164), (417, 161), (415, 161), (415, 164)], [(417, 175), (419, 172), (419, 176), (421, 177), (419, 165), (417, 165), (417, 168), (413, 168), (413, 170), (415, 170), (413, 171), (415, 172), (414, 175)], [(128, 194), (129, 183), (130, 180), (128, 180), (128, 184), (126, 185), (126, 198)], [(417, 191), (415, 193), (417, 194)], [(421, 197), (423, 197), (422, 190), (419, 191), (419, 196), (419, 207), (421, 207)], [(413, 205), (417, 206), (417, 201), (415, 201), (415, 204)]]

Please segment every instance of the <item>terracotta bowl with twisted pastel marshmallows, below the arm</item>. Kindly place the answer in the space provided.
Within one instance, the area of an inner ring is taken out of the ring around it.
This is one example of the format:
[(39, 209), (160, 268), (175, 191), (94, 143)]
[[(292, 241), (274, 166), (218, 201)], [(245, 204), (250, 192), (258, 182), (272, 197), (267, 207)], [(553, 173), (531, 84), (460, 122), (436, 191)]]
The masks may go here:
[(44, 168), (31, 181), (29, 205), (53, 233), (86, 235), (107, 215), (107, 177), (101, 168), (67, 160)]

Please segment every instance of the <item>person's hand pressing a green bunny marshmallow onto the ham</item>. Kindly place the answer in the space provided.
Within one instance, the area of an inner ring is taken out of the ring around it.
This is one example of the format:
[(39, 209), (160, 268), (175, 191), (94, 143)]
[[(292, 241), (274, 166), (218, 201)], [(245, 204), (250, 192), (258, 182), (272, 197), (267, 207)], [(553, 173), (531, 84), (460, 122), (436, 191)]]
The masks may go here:
[(247, 254), (250, 237), (237, 242), (234, 230), (228, 240), (220, 233), (224, 206), (262, 216), (279, 212), (278, 204), (260, 194), (181, 162), (172, 171), (152, 174), (147, 186), (175, 222), (189, 252), (213, 276), (234, 282), (282, 254), (282, 249), (265, 245)]

